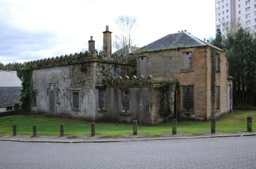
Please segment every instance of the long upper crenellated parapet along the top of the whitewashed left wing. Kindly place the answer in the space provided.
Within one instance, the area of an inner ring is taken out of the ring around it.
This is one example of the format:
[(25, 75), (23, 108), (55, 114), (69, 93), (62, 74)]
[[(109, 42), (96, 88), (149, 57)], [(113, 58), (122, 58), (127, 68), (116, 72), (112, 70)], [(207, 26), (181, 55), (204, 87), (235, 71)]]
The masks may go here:
[(66, 54), (56, 57), (49, 57), (45, 59), (38, 59), (31, 62), (25, 62), (25, 67), (27, 65), (31, 66), (31, 69), (36, 68), (43, 68), (43, 67), (52, 67), (52, 66), (61, 66), (61, 65), (68, 65), (68, 64), (76, 64), (76, 63), (84, 63), (84, 62), (91, 62), (91, 61), (106, 61), (106, 62), (113, 62), (113, 63), (125, 63), (125, 64), (135, 64), (135, 58), (133, 56), (125, 56), (121, 55), (112, 55), (107, 56), (105, 55), (104, 51), (98, 52), (96, 49), (93, 49), (91, 52), (86, 51), (75, 53), (75, 54)]

